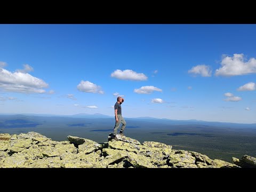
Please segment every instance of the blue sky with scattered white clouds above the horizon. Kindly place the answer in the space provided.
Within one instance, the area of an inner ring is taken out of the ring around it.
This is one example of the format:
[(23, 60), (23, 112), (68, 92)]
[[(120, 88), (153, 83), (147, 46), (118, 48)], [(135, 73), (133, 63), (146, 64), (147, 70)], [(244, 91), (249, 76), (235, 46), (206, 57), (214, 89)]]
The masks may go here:
[(0, 25), (0, 113), (256, 123), (256, 25)]

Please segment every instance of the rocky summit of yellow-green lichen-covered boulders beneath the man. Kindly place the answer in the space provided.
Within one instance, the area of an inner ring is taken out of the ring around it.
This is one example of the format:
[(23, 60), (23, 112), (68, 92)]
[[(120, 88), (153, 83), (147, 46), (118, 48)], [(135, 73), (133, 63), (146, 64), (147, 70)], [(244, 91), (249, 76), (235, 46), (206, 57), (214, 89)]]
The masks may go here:
[(255, 167), (256, 158), (233, 157), (233, 163), (210, 159), (195, 151), (175, 150), (164, 143), (139, 141), (111, 134), (108, 142), (68, 136), (52, 141), (36, 132), (0, 134), (0, 167), (16, 168), (243, 168)]

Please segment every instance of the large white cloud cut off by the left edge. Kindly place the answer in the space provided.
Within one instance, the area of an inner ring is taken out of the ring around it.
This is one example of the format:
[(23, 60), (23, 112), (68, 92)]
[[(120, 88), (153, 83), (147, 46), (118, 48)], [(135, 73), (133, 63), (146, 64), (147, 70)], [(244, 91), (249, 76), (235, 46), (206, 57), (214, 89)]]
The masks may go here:
[(43, 88), (48, 86), (42, 79), (31, 76), (28, 73), (0, 70), (0, 87), (7, 92), (19, 93), (45, 93)]

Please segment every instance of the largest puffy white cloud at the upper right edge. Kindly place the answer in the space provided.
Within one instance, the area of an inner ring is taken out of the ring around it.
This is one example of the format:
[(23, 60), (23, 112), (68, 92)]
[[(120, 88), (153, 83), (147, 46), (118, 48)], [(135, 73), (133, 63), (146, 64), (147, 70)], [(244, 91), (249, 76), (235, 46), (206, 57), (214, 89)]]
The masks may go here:
[(244, 61), (244, 54), (234, 54), (233, 57), (222, 55), (221, 67), (216, 69), (216, 76), (235, 76), (256, 73), (256, 59)]

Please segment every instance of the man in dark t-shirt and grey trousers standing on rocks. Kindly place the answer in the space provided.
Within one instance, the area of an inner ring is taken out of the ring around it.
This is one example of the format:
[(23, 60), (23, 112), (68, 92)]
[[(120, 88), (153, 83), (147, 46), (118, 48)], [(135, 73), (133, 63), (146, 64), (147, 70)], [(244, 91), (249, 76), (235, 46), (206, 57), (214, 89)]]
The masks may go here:
[(116, 134), (117, 134), (117, 130), (118, 130), (118, 127), (120, 125), (120, 123), (122, 123), (122, 127), (121, 127), (121, 130), (119, 132), (119, 134), (121, 135), (124, 135), (123, 131), (125, 129), (125, 126), (126, 126), (126, 122), (124, 121), (124, 118), (122, 117), (122, 108), (121, 108), (121, 104), (124, 102), (124, 98), (122, 97), (117, 97), (117, 102), (115, 104), (115, 119), (116, 119), (116, 124), (115, 124), (115, 127), (114, 127), (114, 135), (113, 135), (113, 138), (118, 141), (118, 139), (116, 138)]

